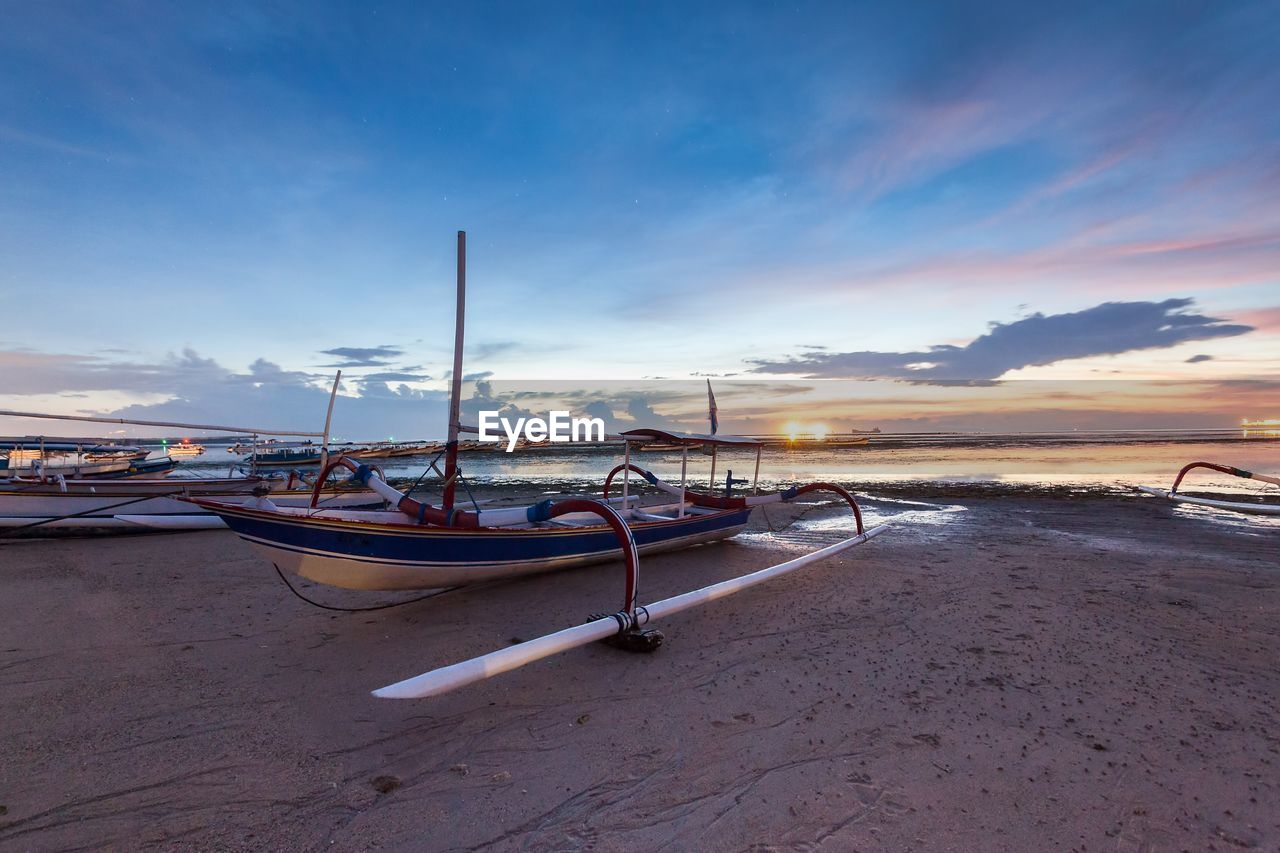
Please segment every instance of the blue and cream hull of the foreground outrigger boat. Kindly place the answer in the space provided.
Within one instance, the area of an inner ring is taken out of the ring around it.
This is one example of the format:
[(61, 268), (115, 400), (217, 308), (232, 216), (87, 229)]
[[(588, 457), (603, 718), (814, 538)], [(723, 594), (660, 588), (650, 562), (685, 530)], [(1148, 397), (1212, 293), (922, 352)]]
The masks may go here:
[[(201, 503), (280, 570), (344, 589), (457, 587), (622, 556), (616, 535), (602, 525), (458, 529), (330, 523)], [(640, 553), (655, 553), (726, 539), (739, 533), (749, 516), (749, 508), (689, 515), (634, 524), (631, 532)]]

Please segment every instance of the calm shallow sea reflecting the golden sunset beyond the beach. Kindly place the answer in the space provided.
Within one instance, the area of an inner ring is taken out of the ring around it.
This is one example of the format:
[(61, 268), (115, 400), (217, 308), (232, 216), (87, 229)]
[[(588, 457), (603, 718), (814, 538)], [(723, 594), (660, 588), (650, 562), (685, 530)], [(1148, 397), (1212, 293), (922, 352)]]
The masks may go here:
[[(221, 447), (184, 467), (225, 471), (238, 457)], [(465, 475), (477, 484), (545, 483), (598, 485), (621, 451), (567, 450), (470, 452), (460, 456)], [(858, 488), (874, 484), (974, 484), (1005, 488), (1080, 488), (1128, 491), (1130, 485), (1167, 488), (1187, 462), (1203, 460), (1265, 474), (1280, 474), (1280, 441), (1187, 439), (991, 439), (951, 438), (925, 443), (883, 441), (865, 447), (835, 450), (765, 450), (760, 464), (762, 485), (831, 480)], [(388, 476), (416, 478), (428, 457), (374, 460)], [(632, 461), (668, 482), (680, 480), (678, 452), (635, 452)], [(721, 450), (716, 479), (723, 487), (726, 470), (750, 479), (754, 451)], [(710, 457), (689, 455), (691, 483), (707, 483)], [(1192, 491), (1258, 492), (1261, 484), (1212, 471), (1190, 475)], [(1280, 496), (1280, 489), (1268, 488)]]

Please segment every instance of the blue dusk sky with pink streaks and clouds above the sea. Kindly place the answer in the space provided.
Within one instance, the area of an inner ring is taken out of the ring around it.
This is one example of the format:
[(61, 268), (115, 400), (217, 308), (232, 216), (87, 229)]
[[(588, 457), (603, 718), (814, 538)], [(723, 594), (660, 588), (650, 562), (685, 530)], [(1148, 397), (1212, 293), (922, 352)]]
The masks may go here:
[(0, 9), (4, 409), (436, 434), (466, 229), (472, 379), (1280, 416), (1275, 1)]

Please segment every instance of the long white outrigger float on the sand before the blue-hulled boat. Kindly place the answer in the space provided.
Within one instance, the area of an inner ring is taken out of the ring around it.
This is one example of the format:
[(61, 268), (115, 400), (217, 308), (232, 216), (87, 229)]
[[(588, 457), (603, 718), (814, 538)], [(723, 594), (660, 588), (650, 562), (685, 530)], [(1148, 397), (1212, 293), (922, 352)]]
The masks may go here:
[[(692, 592), (666, 598), (646, 607), (637, 607), (635, 610), (635, 626), (637, 628), (657, 619), (662, 619), (663, 616), (671, 616), (682, 610), (689, 610), (690, 607), (705, 605), (716, 601), (717, 598), (724, 598), (726, 596), (732, 596), (733, 593), (742, 592), (744, 589), (750, 589), (756, 584), (762, 584), (767, 580), (795, 571), (796, 569), (803, 569), (804, 566), (817, 562), (818, 560), (824, 560), (840, 553), (841, 551), (859, 546), (873, 537), (878, 537), (887, 529), (888, 528), (884, 525), (872, 528), (870, 530), (867, 530), (856, 537), (850, 537), (849, 539), (827, 546), (826, 548), (814, 551), (813, 553), (808, 553), (803, 557), (796, 557), (795, 560), (780, 562), (776, 566), (769, 566), (768, 569), (762, 569), (749, 575), (731, 578), (730, 580), (723, 580), (718, 584), (712, 584), (710, 587), (694, 589)], [(509, 672), (511, 670), (516, 670), (526, 663), (532, 663), (534, 661), (550, 657), (552, 654), (567, 652), (571, 648), (577, 648), (580, 646), (586, 646), (588, 643), (613, 637), (620, 631), (623, 621), (627, 621), (626, 613), (604, 616), (586, 622), (585, 625), (566, 628), (564, 630), (548, 634), (547, 637), (539, 637), (538, 639), (520, 643), (518, 646), (511, 646), (508, 648), (498, 649), (497, 652), (490, 652), (489, 654), (474, 657), (470, 661), (462, 661), (438, 670), (431, 670), (430, 672), (424, 672), (422, 675), (416, 675), (403, 681), (397, 681), (396, 684), (374, 690), (374, 695), (380, 699), (425, 699), (428, 697), (440, 695), (442, 693), (456, 690), (457, 688), (466, 686), (467, 684), (475, 684), (476, 681), (483, 681), (488, 678), (493, 678), (494, 675)]]

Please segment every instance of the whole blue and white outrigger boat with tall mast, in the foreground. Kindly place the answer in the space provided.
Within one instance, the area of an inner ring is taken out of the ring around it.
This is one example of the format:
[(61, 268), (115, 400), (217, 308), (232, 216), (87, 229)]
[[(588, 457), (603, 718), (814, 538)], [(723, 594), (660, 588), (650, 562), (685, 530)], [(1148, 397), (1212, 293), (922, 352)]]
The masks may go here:
[[(460, 478), (458, 434), (468, 430), (460, 423), (462, 393), (462, 337), (466, 302), (466, 234), (458, 232), (457, 320), (454, 328), (453, 380), (445, 444), (444, 494), (440, 506), (420, 502), (389, 485), (374, 469), (346, 456), (332, 460), (316, 480), (316, 489), (337, 469), (364, 484), (394, 508), (388, 511), (330, 510), (275, 506), (270, 497), (232, 503), (191, 497), (189, 502), (218, 514), (242, 539), (255, 546), (280, 570), (310, 580), (347, 589), (435, 589), (518, 578), (529, 574), (607, 562), (622, 558), (626, 587), (622, 608), (593, 617), (540, 639), (521, 643), (471, 661), (434, 670), (375, 690), (380, 698), (424, 698), (524, 666), (550, 654), (612, 639), (616, 644), (648, 651), (662, 635), (644, 626), (655, 619), (703, 605), (755, 584), (795, 571), (814, 561), (859, 546), (886, 530), (867, 529), (854, 497), (831, 483), (813, 483), (785, 492), (760, 494), (758, 488), (760, 443), (753, 438), (672, 433), (636, 429), (614, 437), (622, 441), (625, 459), (605, 478), (604, 497), (547, 500), (532, 506), (462, 510), (456, 506)], [(714, 425), (714, 420), (713, 420)], [(680, 485), (631, 464), (632, 444), (662, 442), (682, 450)], [(723, 492), (701, 493), (689, 488), (689, 450), (712, 448), (712, 492), (716, 492), (716, 452), (722, 447), (754, 447), (755, 479), (750, 494), (735, 494), (730, 471)], [(621, 474), (622, 494), (609, 498), (609, 488)], [(631, 494), (631, 475), (667, 493), (672, 501), (639, 506)], [(812, 492), (833, 492), (852, 510), (854, 535), (796, 560), (695, 589), (675, 598), (640, 606), (636, 598), (640, 555), (685, 548), (726, 539), (739, 533), (760, 505), (790, 501)]]

